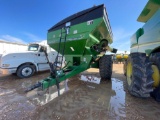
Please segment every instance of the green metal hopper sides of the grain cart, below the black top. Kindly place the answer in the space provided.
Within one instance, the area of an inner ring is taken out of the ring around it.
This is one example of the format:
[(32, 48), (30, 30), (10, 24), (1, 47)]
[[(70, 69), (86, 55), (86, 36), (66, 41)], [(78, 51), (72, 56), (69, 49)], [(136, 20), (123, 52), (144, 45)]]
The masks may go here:
[[(65, 54), (82, 54), (84, 48), (100, 42), (101, 39), (107, 39), (112, 43), (112, 36), (106, 27), (103, 18), (93, 20), (93, 24), (87, 25), (87, 22), (70, 27), (69, 34), (66, 39)], [(60, 30), (49, 32), (47, 42), (56, 51), (58, 51), (58, 43), (60, 39)], [(63, 41), (61, 46), (63, 47)], [(74, 49), (74, 51), (71, 49)], [(60, 53), (62, 53), (60, 51)]]

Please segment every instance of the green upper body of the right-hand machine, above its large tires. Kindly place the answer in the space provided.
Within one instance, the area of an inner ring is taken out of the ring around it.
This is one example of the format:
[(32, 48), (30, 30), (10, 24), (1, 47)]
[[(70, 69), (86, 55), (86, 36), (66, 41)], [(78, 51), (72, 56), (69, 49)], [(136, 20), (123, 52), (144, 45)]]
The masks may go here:
[[(131, 52), (143, 52), (149, 55), (160, 46), (160, 1), (150, 0), (145, 9), (154, 10), (147, 22), (131, 37)], [(143, 16), (141, 16), (143, 18)]]

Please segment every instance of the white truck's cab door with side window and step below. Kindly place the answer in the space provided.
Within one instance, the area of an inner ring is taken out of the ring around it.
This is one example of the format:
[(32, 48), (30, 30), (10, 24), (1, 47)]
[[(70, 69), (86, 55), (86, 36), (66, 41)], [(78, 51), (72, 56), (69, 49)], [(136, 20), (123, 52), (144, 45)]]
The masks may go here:
[(49, 64), (44, 53), (44, 46), (40, 46), (40, 49), (37, 53), (37, 65), (39, 71), (49, 70)]

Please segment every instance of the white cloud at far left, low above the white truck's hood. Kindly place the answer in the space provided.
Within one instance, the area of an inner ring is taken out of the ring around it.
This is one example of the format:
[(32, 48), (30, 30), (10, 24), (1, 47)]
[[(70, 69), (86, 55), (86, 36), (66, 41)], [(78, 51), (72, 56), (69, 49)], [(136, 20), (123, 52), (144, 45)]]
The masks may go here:
[(0, 36), (0, 39), (3, 41), (9, 41), (9, 42), (16, 42), (16, 43), (23, 43), (26, 44), (26, 42), (20, 38), (11, 36), (11, 35), (2, 35)]

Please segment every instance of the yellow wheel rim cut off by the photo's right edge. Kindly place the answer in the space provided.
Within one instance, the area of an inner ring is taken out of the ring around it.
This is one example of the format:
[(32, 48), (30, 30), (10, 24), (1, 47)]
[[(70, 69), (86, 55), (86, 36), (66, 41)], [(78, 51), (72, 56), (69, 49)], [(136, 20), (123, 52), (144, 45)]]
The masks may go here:
[(158, 87), (160, 83), (160, 75), (159, 75), (159, 69), (156, 65), (152, 65), (152, 78), (154, 80), (153, 87)]

